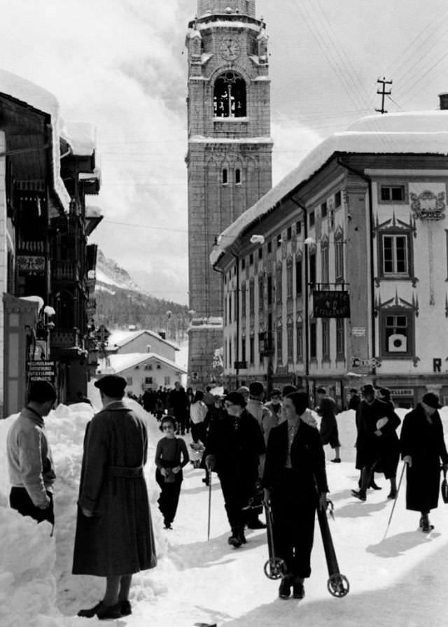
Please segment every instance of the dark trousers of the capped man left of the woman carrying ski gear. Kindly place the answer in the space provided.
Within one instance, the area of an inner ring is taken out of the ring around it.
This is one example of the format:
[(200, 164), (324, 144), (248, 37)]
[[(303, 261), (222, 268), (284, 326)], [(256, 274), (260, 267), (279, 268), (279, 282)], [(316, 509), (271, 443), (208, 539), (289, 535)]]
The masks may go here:
[(243, 510), (243, 507), (248, 505), (249, 499), (253, 496), (255, 479), (251, 481), (243, 474), (234, 472), (220, 472), (219, 479), (232, 534), (239, 535), (244, 531), (246, 524), (247, 510)]

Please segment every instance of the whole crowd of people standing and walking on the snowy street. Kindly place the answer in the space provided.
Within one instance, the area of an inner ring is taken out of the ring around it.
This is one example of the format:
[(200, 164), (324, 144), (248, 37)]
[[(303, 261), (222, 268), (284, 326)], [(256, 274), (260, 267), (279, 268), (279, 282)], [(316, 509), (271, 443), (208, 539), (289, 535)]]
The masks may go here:
[[(81, 617), (113, 619), (132, 612), (132, 575), (156, 565), (155, 542), (144, 465), (148, 453), (146, 423), (123, 402), (126, 381), (106, 375), (99, 388), (103, 409), (85, 430), (83, 462), (73, 551), (73, 574), (105, 577), (104, 598)], [(54, 524), (52, 490), (55, 467), (45, 433), (44, 418), (56, 400), (46, 381), (33, 383), (28, 402), (8, 432), (10, 506), (37, 522)], [(324, 446), (341, 463), (337, 404), (325, 388), (316, 390), (314, 410), (305, 390), (274, 388), (269, 400), (260, 381), (214, 395), (207, 388), (145, 393), (145, 409), (160, 420), (162, 437), (155, 451), (158, 505), (166, 529), (172, 528), (181, 494), (183, 467), (190, 446), (202, 451), (204, 483), (211, 473), (220, 480), (230, 536), (238, 549), (246, 544), (246, 528), (264, 528), (262, 502), (269, 502), (274, 520), (276, 557), (285, 564), (279, 597), (303, 598), (304, 580), (311, 572), (316, 509), (326, 509), (328, 483)], [(397, 498), (400, 455), (407, 469), (406, 507), (419, 512), (419, 528), (433, 529), (429, 514), (438, 504), (440, 470), (448, 470), (448, 453), (434, 393), (400, 418), (386, 388), (371, 384), (350, 390), (349, 407), (356, 411), (356, 467), (358, 489), (367, 500), (374, 472), (390, 481), (388, 498)]]

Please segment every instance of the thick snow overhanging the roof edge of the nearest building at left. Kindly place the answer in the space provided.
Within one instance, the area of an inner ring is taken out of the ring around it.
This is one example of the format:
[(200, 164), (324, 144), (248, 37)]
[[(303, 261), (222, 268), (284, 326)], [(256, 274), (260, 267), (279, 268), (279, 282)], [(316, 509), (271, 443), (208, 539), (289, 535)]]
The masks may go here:
[(0, 92), (16, 100), (20, 100), (34, 107), (38, 111), (48, 113), (51, 117), (52, 131), (52, 169), (53, 185), (64, 211), (69, 211), (70, 196), (61, 178), (59, 153), (59, 127), (62, 120), (59, 115), (59, 103), (53, 94), (39, 85), (0, 69)]

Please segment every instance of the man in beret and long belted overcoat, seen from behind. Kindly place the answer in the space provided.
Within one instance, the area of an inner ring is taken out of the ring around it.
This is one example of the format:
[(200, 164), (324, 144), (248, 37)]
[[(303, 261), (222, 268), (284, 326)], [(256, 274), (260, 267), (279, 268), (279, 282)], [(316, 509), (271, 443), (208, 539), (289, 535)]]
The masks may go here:
[(74, 575), (106, 577), (103, 600), (78, 616), (119, 618), (131, 613), (132, 573), (156, 565), (144, 464), (146, 425), (123, 403), (126, 380), (95, 383), (103, 409), (87, 424), (73, 554)]

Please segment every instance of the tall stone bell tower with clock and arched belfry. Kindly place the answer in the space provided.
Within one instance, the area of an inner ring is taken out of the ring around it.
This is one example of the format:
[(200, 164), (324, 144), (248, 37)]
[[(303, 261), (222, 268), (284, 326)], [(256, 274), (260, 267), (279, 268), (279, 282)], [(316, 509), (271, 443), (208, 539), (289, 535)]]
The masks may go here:
[(197, 0), (188, 27), (188, 374), (207, 386), (223, 345), (221, 278), (209, 255), (218, 234), (272, 187), (270, 80), (255, 0)]

